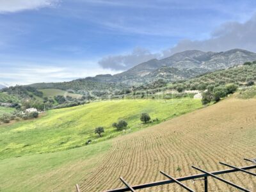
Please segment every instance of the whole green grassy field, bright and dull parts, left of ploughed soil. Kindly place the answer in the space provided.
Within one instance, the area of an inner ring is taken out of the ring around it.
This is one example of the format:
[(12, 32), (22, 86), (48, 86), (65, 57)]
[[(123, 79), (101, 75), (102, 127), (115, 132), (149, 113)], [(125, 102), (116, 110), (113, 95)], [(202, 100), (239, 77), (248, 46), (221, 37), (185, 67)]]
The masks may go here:
[[(0, 125), (0, 189), (72, 191), (109, 151), (110, 138), (156, 124), (141, 124), (141, 113), (163, 122), (198, 108), (202, 108), (201, 101), (194, 99), (109, 100)], [(127, 131), (111, 127), (118, 118), (128, 122)], [(105, 127), (102, 138), (94, 134), (97, 126)], [(92, 144), (85, 145), (89, 139)]]

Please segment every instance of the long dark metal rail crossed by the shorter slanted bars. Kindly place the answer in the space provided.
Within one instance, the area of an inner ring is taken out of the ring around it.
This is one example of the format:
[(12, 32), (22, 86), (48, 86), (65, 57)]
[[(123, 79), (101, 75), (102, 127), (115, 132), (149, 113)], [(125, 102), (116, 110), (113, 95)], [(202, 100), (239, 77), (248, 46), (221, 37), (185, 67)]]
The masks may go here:
[[(252, 165), (252, 166), (244, 166), (241, 167), (241, 169), (243, 170), (251, 170), (251, 169), (255, 169), (256, 165)], [(213, 175), (220, 175), (220, 174), (225, 174), (225, 173), (234, 173), (234, 172), (239, 172), (239, 170), (235, 170), (235, 169), (228, 169), (228, 170), (220, 170), (220, 171), (216, 171), (216, 172), (211, 172)], [(179, 181), (183, 181), (183, 180), (191, 180), (191, 179), (199, 179), (199, 178), (204, 178), (207, 177), (209, 175), (203, 173), (203, 174), (198, 174), (198, 175), (189, 175), (186, 177), (179, 177), (176, 178), (176, 180)], [(149, 183), (145, 183), (145, 184), (140, 184), (140, 185), (136, 185), (136, 186), (132, 186), (133, 189), (137, 190), (137, 189), (145, 189), (145, 188), (151, 188), (154, 186), (161, 186), (164, 184), (171, 184), (174, 183), (174, 180), (159, 180), (159, 181), (155, 181), (155, 182), (149, 182)], [(129, 191), (128, 188), (119, 188), (119, 189), (110, 189), (108, 191), (105, 192), (124, 192), (124, 191)]]

